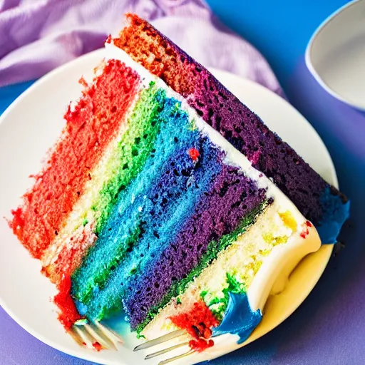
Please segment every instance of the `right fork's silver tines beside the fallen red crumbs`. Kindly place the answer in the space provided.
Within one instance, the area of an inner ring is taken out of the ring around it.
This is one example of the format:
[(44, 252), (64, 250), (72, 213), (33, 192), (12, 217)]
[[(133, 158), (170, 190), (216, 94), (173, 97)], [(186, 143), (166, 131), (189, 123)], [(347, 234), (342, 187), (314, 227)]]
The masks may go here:
[[(178, 344), (175, 344), (175, 345), (170, 346), (170, 347), (165, 348), (165, 349), (161, 349), (159, 351), (155, 351), (152, 354), (148, 354), (147, 356), (145, 356), (145, 360), (152, 359), (155, 356), (160, 356), (160, 355), (166, 354), (170, 351), (173, 351), (173, 350), (178, 349), (178, 348), (183, 347), (183, 346), (186, 346), (186, 347), (189, 346), (189, 342), (190, 342), (190, 339), (191, 339), (190, 335), (187, 334), (187, 332), (184, 331), (183, 329), (178, 329), (176, 331), (173, 331), (173, 332), (170, 332), (170, 333), (165, 334), (163, 336), (160, 336), (157, 339), (146, 341), (143, 344), (140, 344), (140, 345), (136, 346), (133, 351), (140, 351), (140, 350), (143, 350), (143, 349), (149, 349), (150, 347), (158, 346), (160, 344), (164, 344), (165, 342), (168, 342), (172, 339), (178, 339), (178, 337), (180, 337), (180, 342)], [(193, 354), (194, 352), (195, 352), (195, 350), (192, 350), (189, 347), (187, 349), (187, 351), (184, 352), (183, 354), (173, 356), (173, 357), (170, 357), (169, 359), (160, 361), (158, 363), (158, 365), (169, 364), (170, 362), (182, 359), (185, 356), (189, 356), (189, 355)]]

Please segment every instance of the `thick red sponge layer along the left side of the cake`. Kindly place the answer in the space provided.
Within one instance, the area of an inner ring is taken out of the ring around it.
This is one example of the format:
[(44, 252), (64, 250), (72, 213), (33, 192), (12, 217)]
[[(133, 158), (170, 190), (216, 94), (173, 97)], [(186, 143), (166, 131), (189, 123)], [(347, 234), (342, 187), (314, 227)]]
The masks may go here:
[(74, 110), (68, 108), (66, 126), (46, 167), (34, 176), (24, 205), (14, 210), (11, 228), (23, 245), (40, 258), (63, 227), (90, 172), (115, 137), (140, 84), (135, 71), (109, 61), (103, 73), (86, 86)]

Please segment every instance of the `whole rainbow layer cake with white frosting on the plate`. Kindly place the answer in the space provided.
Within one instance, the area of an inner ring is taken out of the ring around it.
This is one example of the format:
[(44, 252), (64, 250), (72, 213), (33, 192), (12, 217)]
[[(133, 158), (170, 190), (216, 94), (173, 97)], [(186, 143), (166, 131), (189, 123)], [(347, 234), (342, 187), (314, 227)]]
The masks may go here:
[(302, 257), (336, 242), (349, 202), (209, 71), (127, 20), (11, 228), (58, 287), (66, 329), (123, 311), (145, 338), (245, 341)]

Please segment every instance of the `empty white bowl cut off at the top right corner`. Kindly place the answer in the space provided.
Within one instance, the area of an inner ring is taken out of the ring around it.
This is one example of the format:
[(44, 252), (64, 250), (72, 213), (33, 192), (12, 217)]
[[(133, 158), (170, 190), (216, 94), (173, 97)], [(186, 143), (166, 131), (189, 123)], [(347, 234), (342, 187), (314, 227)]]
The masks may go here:
[(335, 98), (365, 110), (365, 0), (342, 6), (314, 32), (305, 60)]

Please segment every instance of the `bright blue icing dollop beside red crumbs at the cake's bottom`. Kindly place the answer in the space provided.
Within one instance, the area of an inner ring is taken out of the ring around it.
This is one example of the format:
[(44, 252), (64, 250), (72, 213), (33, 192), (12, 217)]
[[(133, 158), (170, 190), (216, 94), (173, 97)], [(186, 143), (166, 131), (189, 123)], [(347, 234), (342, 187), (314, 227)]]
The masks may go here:
[(220, 325), (213, 329), (213, 336), (237, 334), (240, 336), (237, 344), (242, 344), (261, 322), (262, 312), (259, 309), (252, 312), (246, 293), (229, 292), (228, 294), (230, 299), (228, 300), (225, 317)]

